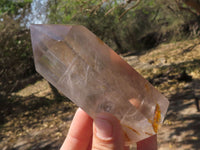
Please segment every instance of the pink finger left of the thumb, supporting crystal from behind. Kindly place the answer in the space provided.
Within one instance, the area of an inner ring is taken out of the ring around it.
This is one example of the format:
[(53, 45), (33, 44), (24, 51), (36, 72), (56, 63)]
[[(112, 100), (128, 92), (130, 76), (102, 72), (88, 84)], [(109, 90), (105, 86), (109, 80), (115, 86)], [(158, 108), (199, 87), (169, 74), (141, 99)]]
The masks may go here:
[(78, 109), (61, 150), (87, 150), (92, 138), (93, 120)]

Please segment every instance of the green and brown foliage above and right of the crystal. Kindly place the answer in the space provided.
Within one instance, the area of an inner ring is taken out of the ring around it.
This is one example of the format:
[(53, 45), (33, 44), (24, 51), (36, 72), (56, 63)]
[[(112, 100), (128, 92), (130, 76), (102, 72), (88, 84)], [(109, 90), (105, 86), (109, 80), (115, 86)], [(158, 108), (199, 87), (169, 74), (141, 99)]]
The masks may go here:
[[(133, 1), (129, 7), (135, 3)], [(49, 22), (85, 25), (113, 49), (123, 53), (188, 37), (188, 28), (193, 28), (191, 21), (198, 20), (196, 15), (180, 10), (175, 0), (142, 0), (120, 18), (128, 9), (125, 6), (114, 0), (49, 1)], [(199, 25), (196, 31), (198, 36)]]

